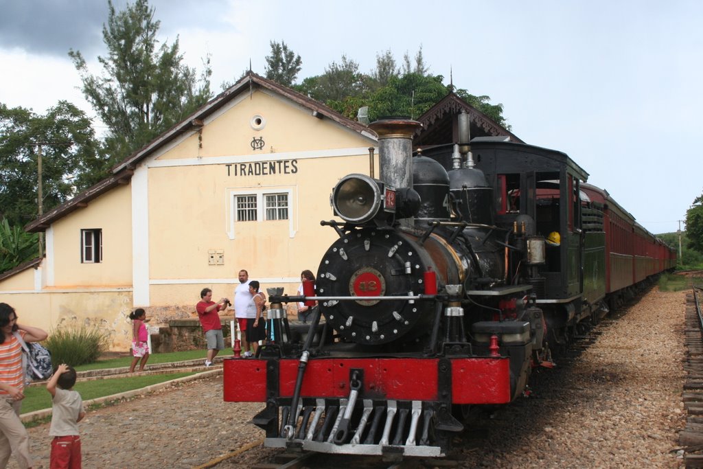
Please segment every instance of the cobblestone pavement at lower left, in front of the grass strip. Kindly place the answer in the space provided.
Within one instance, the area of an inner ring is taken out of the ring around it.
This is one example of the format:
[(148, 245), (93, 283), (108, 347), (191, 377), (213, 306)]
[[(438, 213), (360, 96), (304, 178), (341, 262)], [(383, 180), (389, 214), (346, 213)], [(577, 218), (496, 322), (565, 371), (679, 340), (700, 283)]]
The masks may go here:
[[(262, 408), (223, 402), (219, 375), (89, 411), (79, 423), (83, 467), (197, 467), (262, 439), (246, 423)], [(49, 424), (29, 432), (34, 468), (49, 468)]]

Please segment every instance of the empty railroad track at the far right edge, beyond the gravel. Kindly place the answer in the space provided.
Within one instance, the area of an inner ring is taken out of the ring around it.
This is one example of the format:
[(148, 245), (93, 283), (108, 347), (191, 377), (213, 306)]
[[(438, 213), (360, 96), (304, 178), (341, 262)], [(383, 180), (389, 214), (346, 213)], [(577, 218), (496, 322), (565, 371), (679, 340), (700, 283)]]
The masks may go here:
[(688, 377), (683, 385), (683, 403), (688, 413), (686, 426), (679, 435), (687, 468), (703, 468), (703, 290), (694, 287), (686, 301), (683, 366)]

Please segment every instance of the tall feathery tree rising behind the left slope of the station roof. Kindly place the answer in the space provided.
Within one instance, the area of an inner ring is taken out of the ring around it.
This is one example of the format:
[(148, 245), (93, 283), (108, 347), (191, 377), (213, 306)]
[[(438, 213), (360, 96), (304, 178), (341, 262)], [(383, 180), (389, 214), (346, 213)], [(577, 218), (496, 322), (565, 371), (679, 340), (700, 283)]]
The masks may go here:
[(148, 0), (115, 11), (108, 0), (103, 41), (108, 56), (98, 56), (103, 75), (91, 75), (79, 51), (69, 56), (81, 75), (82, 91), (108, 126), (105, 147), (113, 162), (122, 160), (207, 103), (211, 97), (209, 58), (198, 78), (183, 64), (179, 39), (157, 47), (160, 21)]

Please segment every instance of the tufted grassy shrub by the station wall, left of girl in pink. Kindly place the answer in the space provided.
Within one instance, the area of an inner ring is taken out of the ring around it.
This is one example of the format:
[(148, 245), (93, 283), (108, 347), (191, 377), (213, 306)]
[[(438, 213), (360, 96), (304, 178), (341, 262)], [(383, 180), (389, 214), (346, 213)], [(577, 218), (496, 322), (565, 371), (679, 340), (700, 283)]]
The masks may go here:
[(79, 366), (98, 360), (110, 345), (110, 334), (96, 327), (72, 326), (52, 330), (44, 345), (51, 352), (54, 366)]

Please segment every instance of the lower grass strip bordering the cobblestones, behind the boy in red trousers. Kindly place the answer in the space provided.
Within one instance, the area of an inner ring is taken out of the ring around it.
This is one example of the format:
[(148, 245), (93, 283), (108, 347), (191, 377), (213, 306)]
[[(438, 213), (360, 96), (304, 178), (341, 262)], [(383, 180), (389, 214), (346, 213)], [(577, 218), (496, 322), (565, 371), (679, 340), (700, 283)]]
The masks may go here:
[[(77, 390), (84, 401), (96, 399), (97, 397), (110, 396), (119, 392), (136, 390), (141, 387), (163, 383), (164, 381), (183, 378), (195, 373), (169, 373), (167, 375), (146, 375), (128, 376), (120, 378), (110, 378), (102, 380), (91, 380), (76, 383), (74, 389)], [(49, 409), (51, 407), (51, 394), (45, 386), (26, 387), (25, 399), (22, 400), (22, 413)]]

